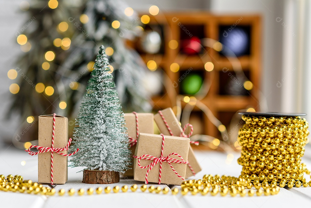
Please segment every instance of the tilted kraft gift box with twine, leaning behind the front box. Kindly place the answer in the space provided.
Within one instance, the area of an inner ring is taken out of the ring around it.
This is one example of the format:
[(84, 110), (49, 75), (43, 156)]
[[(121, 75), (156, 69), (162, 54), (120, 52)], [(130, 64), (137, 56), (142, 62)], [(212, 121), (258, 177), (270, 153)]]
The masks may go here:
[[(185, 127), (182, 129), (172, 108), (166, 108), (162, 111), (158, 111), (158, 113), (154, 116), (154, 119), (160, 132), (164, 135), (180, 136), (188, 138), (192, 135), (193, 132), (192, 125), (186, 124)], [(186, 135), (185, 130), (188, 126), (191, 128), (191, 132), (189, 135)], [(190, 143), (198, 145), (198, 142), (190, 141)], [(191, 146), (189, 146), (186, 178), (195, 175), (201, 170), (202, 168), (194, 155), (193, 149), (191, 148)]]

